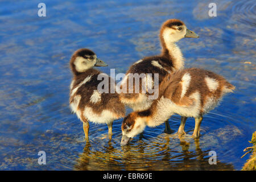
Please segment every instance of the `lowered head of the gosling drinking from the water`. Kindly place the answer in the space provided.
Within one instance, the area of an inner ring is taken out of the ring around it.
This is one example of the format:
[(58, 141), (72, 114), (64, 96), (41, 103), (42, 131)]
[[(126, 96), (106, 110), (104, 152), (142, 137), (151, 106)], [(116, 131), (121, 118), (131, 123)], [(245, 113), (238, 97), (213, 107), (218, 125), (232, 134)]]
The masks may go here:
[(131, 138), (142, 133), (146, 127), (147, 117), (141, 116), (138, 113), (130, 113), (123, 119), (122, 123), (122, 140), (120, 145), (125, 146)]

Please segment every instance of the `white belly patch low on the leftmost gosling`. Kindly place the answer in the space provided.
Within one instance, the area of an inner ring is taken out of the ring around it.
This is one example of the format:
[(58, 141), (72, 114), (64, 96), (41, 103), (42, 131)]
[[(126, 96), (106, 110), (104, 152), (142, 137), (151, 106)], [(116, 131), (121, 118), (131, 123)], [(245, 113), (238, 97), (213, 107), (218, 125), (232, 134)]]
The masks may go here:
[(110, 110), (102, 110), (100, 114), (94, 113), (92, 107), (85, 106), (84, 111), (82, 112), (84, 117), (94, 123), (111, 123), (115, 119), (119, 119), (117, 114), (113, 113)]

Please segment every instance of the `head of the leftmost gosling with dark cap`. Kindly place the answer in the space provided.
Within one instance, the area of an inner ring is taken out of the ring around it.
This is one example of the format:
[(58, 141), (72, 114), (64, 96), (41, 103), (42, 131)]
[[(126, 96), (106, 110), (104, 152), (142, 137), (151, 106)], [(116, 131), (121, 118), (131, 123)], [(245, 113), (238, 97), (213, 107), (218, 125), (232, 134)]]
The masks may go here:
[(107, 67), (108, 64), (97, 58), (96, 54), (89, 49), (79, 49), (70, 61), (71, 69), (73, 73), (82, 73), (93, 67)]

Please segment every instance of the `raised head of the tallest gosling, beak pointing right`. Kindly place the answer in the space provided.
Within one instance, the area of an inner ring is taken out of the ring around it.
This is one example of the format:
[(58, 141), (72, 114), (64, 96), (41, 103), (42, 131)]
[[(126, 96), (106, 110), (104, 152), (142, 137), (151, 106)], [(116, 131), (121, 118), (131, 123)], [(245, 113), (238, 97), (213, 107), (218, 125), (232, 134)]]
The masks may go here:
[(162, 42), (169, 44), (183, 38), (199, 38), (199, 35), (188, 30), (185, 24), (179, 19), (169, 19), (163, 23), (160, 30), (160, 39)]

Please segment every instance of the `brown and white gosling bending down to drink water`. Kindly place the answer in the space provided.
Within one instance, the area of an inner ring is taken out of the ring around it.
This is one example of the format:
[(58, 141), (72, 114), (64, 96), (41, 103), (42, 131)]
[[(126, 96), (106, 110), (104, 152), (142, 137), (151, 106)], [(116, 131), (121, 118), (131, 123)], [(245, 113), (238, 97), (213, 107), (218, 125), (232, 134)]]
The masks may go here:
[(175, 113), (182, 117), (179, 137), (185, 134), (187, 117), (193, 117), (192, 137), (198, 138), (203, 115), (214, 109), (222, 96), (233, 92), (234, 88), (224, 77), (198, 68), (181, 69), (167, 75), (159, 86), (159, 98), (150, 109), (134, 111), (123, 120), (121, 146), (142, 133), (146, 126), (159, 126)]

